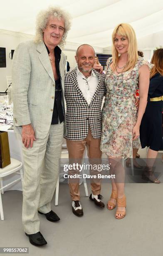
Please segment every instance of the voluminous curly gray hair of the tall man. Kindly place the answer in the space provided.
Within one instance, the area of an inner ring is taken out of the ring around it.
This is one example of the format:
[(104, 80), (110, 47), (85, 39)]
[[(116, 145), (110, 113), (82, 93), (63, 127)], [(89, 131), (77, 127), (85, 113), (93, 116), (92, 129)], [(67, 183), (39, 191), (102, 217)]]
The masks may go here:
[(59, 44), (61, 48), (64, 47), (64, 44), (66, 43), (67, 33), (71, 28), (71, 17), (69, 13), (62, 10), (60, 7), (52, 7), (50, 6), (47, 10), (41, 10), (40, 13), (38, 13), (36, 18), (36, 34), (35, 34), (35, 42), (42, 42), (43, 40), (43, 30), (46, 28), (48, 20), (50, 17), (54, 17), (57, 19), (64, 19), (64, 34), (62, 36), (62, 40)]

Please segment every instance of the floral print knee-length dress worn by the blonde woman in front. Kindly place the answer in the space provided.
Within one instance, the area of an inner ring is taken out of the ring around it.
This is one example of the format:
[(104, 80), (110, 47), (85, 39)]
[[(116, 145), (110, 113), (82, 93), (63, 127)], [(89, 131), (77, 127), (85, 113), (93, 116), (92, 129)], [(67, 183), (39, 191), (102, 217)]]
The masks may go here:
[(131, 157), (132, 148), (141, 148), (140, 139), (132, 140), (132, 130), (137, 120), (138, 110), (135, 106), (136, 90), (138, 90), (139, 69), (142, 65), (153, 64), (138, 57), (132, 70), (114, 74), (107, 61), (106, 97), (102, 109), (101, 151), (112, 157)]

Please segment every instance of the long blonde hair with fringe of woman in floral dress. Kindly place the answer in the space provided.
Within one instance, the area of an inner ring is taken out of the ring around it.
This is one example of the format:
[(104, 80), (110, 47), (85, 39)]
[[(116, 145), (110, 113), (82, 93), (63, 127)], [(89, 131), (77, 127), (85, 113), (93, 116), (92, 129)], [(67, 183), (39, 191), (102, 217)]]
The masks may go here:
[(128, 61), (126, 64), (126, 67), (123, 69), (124, 71), (127, 71), (129, 69), (133, 69), (133, 67), (136, 65), (136, 62), (138, 60), (138, 48), (137, 48), (137, 41), (136, 41), (136, 34), (131, 25), (127, 23), (121, 23), (113, 31), (112, 34), (112, 57), (113, 57), (113, 66), (112, 69), (115, 70), (118, 61), (119, 61), (119, 53), (114, 46), (114, 38), (116, 37), (116, 34), (119, 36), (124, 36), (128, 39)]

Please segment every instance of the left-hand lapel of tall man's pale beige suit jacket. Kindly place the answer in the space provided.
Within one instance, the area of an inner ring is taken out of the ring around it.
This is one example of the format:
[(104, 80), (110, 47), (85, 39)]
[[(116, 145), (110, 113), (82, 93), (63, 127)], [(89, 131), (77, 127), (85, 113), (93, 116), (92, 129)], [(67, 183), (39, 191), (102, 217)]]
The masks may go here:
[(55, 84), (52, 66), (50, 64), (49, 56), (47, 53), (47, 49), (44, 45), (44, 42), (37, 44), (37, 51), (40, 53), (38, 57), (43, 65), (44, 69), (49, 74), (49, 77), (51, 77), (52, 81)]

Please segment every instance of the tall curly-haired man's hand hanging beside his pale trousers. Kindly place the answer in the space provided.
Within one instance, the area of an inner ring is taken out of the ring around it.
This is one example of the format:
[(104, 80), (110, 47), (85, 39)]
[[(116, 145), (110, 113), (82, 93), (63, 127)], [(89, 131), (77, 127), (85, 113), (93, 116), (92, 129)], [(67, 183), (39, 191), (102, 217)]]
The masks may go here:
[(24, 146), (26, 148), (29, 148), (29, 146), (32, 148), (33, 141), (36, 141), (36, 139), (32, 125), (22, 125), (22, 143)]

